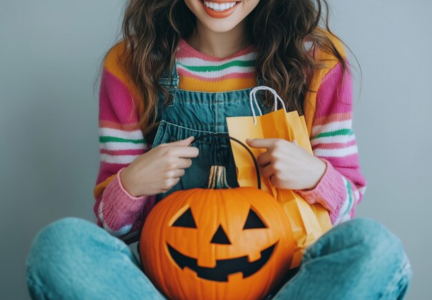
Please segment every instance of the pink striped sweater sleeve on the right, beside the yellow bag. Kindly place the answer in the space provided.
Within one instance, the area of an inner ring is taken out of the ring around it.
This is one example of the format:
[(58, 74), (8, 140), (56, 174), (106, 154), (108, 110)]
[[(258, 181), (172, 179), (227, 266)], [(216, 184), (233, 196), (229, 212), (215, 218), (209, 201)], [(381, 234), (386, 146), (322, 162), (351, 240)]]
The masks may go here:
[(317, 92), (311, 145), (326, 172), (311, 190), (297, 190), (308, 203), (321, 203), (336, 225), (354, 217), (366, 190), (366, 179), (353, 132), (353, 86), (349, 66), (338, 63), (324, 77)]

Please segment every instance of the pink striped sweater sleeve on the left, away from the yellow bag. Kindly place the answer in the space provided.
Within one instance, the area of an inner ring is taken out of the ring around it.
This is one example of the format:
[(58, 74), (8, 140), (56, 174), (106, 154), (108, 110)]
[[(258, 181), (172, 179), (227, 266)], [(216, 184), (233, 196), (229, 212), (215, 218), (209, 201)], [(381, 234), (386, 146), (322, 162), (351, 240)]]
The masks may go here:
[(153, 196), (132, 197), (119, 177), (121, 170), (148, 150), (137, 122), (130, 91), (104, 68), (99, 91), (100, 167), (94, 212), (99, 226), (125, 241), (139, 235), (155, 204)]

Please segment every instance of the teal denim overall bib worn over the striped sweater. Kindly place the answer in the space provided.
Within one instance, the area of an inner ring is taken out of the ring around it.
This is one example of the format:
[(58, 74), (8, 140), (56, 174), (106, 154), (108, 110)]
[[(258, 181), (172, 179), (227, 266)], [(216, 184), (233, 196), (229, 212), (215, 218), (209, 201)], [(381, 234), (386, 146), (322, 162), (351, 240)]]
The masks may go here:
[[(168, 103), (164, 103), (163, 94), (159, 95), (157, 121), (160, 123), (153, 147), (186, 139), (191, 135), (196, 138), (208, 133), (228, 133), (226, 117), (252, 115), (249, 92), (253, 88), (229, 92), (193, 92), (179, 89), (176, 65), (172, 72), (172, 83), (166, 74), (167, 72), (159, 79), (159, 83), (168, 88), (170, 97)], [(257, 83), (261, 83), (259, 77)], [(263, 113), (268, 112), (269, 107), (265, 106), (263, 101), (258, 101), (258, 105)], [(192, 159), (192, 166), (185, 170), (184, 176), (173, 188), (157, 194), (156, 201), (177, 190), (206, 188), (210, 166), (213, 165), (225, 166), (228, 185), (232, 188), (238, 187), (235, 162), (228, 139), (207, 137), (193, 142), (192, 146), (199, 149), (198, 157)]]

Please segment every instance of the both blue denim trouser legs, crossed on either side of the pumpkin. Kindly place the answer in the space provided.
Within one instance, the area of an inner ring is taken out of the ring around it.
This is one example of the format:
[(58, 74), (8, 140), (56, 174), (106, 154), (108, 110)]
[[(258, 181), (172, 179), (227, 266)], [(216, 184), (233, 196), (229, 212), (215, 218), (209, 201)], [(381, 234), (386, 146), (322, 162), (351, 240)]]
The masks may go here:
[[(412, 271), (400, 239), (371, 219), (332, 228), (274, 299), (403, 299)], [(27, 259), (33, 299), (164, 299), (130, 248), (94, 223), (55, 221)]]

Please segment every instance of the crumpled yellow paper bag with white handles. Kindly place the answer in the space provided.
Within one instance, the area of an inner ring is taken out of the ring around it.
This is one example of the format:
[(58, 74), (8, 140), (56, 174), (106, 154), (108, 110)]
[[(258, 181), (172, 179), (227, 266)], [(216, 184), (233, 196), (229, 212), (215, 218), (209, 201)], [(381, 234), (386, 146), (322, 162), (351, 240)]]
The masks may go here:
[[(299, 117), (297, 111), (286, 112), (286, 109), (255, 116), (253, 99), (257, 90), (270, 90), (275, 95), (275, 109), (277, 100), (282, 99), (276, 92), (266, 86), (254, 88), (251, 91), (251, 109), (253, 117), (228, 117), (226, 123), (231, 137), (239, 139), (246, 144), (246, 139), (285, 139), (295, 141), (298, 146), (313, 154), (311, 142), (308, 138), (304, 117)], [(256, 102), (256, 99), (255, 99)], [(284, 105), (283, 105), (284, 106)], [(259, 110), (259, 109), (258, 109)], [(239, 186), (255, 186), (257, 177), (253, 160), (238, 143), (231, 143), (233, 156), (237, 168), (237, 180)], [(255, 157), (265, 149), (250, 148)], [(294, 252), (293, 263), (290, 268), (300, 265), (304, 249), (315, 242), (322, 234), (331, 229), (331, 221), (327, 210), (319, 203), (309, 204), (293, 190), (279, 189), (271, 186), (270, 179), (262, 178), (262, 189), (271, 194), (284, 208), (288, 216), (293, 237), (297, 244)]]

